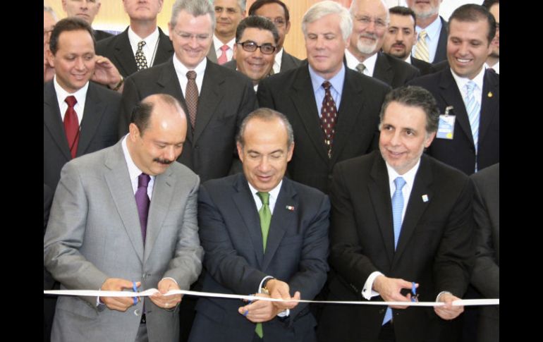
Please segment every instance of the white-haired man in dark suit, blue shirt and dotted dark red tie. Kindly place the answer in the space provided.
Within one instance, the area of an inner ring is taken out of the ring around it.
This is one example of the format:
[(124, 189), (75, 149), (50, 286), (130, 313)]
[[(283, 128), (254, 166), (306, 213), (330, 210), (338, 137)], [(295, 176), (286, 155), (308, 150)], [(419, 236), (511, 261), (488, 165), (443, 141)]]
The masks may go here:
[(343, 64), (352, 27), (340, 4), (311, 6), (302, 23), (307, 62), (258, 85), (260, 106), (284, 113), (293, 126), (296, 149), (289, 176), (323, 193), (329, 192), (336, 162), (377, 146), (379, 108), (390, 90)]

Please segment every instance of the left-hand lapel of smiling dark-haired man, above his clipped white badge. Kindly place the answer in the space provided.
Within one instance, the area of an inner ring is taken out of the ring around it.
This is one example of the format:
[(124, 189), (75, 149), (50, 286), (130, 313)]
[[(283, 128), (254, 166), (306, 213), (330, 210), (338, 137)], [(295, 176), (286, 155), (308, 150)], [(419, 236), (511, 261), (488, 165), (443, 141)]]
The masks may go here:
[[(441, 71), (439, 87), (441, 88), (440, 94), (443, 97), (446, 106), (453, 106), (453, 114), (456, 115), (456, 122), (460, 125), (460, 128), (473, 145), (473, 135), (471, 133), (468, 113), (465, 111), (462, 94), (460, 94), (460, 90), (458, 90), (458, 85), (456, 85), (451, 69), (446, 68), (446, 70)], [(445, 111), (444, 108), (440, 108), (440, 110), (442, 112)]]

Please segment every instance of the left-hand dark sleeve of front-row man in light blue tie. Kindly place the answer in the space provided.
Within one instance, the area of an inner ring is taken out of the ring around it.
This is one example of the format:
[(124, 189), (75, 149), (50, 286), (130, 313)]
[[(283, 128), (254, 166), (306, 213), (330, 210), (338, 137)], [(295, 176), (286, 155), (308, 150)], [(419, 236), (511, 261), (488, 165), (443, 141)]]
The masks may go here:
[[(330, 265), (361, 295), (367, 277), (379, 271), (363, 254), (355, 209), (346, 189), (341, 164), (336, 164), (331, 185)], [(362, 237), (363, 238), (363, 237)]]

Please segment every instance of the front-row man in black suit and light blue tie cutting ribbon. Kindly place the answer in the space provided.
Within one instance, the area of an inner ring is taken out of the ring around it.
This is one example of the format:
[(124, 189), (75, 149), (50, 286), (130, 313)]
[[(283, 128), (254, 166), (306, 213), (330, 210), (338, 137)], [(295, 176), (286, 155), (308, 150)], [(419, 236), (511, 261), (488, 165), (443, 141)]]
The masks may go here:
[(475, 256), (470, 178), (423, 154), (439, 111), (421, 87), (387, 94), (379, 151), (343, 161), (331, 188), (329, 300), (409, 302), (437, 307), (325, 305), (321, 341), (445, 341), (441, 319), (470, 281)]

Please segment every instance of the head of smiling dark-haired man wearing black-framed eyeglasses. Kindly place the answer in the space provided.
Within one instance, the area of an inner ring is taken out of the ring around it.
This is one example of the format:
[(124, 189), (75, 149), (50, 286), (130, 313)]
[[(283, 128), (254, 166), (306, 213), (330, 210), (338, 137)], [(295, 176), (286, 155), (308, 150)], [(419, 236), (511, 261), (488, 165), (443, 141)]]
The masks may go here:
[(234, 59), (224, 63), (227, 68), (240, 71), (252, 80), (255, 91), (262, 78), (273, 73), (279, 33), (270, 20), (249, 16), (240, 21), (236, 30)]

